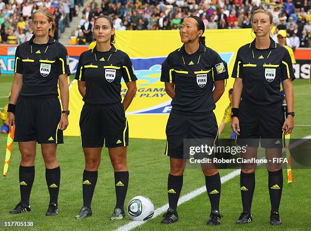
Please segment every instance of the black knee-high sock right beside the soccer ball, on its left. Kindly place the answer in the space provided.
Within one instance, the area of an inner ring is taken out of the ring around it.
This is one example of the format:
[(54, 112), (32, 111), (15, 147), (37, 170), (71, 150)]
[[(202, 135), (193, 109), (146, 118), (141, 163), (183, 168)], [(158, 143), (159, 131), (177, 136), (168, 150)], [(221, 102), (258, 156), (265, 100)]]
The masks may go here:
[(123, 209), (125, 197), (129, 186), (129, 171), (114, 173), (114, 186), (116, 195), (115, 208)]

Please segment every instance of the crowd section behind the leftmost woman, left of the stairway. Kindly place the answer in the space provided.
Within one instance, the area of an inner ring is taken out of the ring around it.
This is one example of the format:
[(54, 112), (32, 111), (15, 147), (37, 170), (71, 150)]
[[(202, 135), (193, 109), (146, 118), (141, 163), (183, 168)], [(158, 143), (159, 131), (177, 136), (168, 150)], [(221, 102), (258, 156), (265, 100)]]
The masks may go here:
[(53, 23), (57, 29), (52, 36), (58, 40), (76, 15), (74, 0), (0, 0), (0, 42), (21, 44), (28, 41), (33, 36), (31, 17), (43, 7), (54, 15)]

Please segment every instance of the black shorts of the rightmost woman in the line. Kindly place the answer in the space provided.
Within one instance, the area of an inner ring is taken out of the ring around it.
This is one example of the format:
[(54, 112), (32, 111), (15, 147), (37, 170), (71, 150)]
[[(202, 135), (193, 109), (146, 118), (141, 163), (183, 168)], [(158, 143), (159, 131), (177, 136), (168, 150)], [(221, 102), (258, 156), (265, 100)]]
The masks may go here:
[(237, 144), (263, 148), (282, 148), (285, 118), (282, 102), (257, 105), (242, 99), (239, 109), (240, 132)]

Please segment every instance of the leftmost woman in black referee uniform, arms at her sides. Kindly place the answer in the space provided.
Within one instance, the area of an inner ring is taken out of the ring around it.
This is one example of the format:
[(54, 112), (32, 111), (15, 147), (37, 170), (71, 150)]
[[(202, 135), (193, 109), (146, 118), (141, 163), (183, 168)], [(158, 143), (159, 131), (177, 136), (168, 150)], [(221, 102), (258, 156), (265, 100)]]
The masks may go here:
[[(56, 160), (57, 144), (63, 143), (68, 126), (69, 56), (66, 47), (49, 35), (55, 26), (46, 9), (33, 14), (34, 36), (19, 45), (15, 53), (15, 77), (8, 108), (9, 124), (15, 125), (14, 141), (21, 152), (19, 167), (20, 203), (11, 214), (29, 212), (29, 196), (35, 178), (36, 144), (46, 167), (45, 177), (50, 193), (47, 216), (57, 215), (60, 169)], [(61, 112), (57, 82), (60, 88)], [(63, 114), (63, 115), (62, 115)]]

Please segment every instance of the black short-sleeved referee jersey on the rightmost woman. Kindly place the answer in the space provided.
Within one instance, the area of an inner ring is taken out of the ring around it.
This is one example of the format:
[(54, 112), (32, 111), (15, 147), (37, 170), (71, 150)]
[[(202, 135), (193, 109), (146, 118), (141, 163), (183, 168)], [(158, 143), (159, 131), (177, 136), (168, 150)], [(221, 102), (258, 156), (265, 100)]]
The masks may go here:
[(255, 40), (240, 47), (232, 77), (242, 79), (242, 98), (259, 105), (281, 101), (280, 83), (295, 79), (288, 50), (271, 38), (268, 49), (257, 49)]

